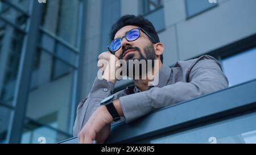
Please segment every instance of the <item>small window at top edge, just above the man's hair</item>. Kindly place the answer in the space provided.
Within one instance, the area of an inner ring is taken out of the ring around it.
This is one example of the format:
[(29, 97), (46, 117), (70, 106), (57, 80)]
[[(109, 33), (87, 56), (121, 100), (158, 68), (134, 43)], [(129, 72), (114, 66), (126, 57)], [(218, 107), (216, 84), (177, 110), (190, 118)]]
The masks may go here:
[(151, 11), (163, 6), (163, 0), (144, 0), (143, 1), (143, 14), (148, 14)]

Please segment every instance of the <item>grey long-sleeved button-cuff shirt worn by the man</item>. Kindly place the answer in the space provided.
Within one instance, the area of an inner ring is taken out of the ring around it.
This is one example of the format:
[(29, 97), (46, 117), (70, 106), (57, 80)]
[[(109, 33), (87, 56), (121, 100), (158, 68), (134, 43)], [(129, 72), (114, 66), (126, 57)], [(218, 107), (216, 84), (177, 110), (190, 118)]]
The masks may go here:
[[(204, 55), (187, 61), (177, 61), (172, 67), (162, 66), (159, 83), (147, 91), (139, 91), (132, 85), (115, 93), (120, 100), (124, 117), (119, 121), (127, 123), (151, 111), (170, 106), (228, 87), (228, 79), (221, 71), (220, 63)], [(77, 136), (100, 101), (113, 94), (114, 84), (96, 77), (88, 97), (77, 107), (73, 135)]]

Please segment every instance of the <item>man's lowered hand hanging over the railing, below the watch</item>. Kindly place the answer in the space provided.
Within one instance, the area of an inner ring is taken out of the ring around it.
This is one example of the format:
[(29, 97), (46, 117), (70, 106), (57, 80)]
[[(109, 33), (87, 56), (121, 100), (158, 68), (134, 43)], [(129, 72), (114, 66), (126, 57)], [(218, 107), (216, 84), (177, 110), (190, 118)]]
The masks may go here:
[[(113, 100), (113, 104), (119, 116), (123, 116), (123, 111), (119, 99)], [(110, 133), (110, 124), (113, 122), (112, 116), (109, 114), (106, 106), (100, 106), (93, 115), (90, 116), (88, 122), (81, 129), (78, 138), (79, 143), (104, 143)]]

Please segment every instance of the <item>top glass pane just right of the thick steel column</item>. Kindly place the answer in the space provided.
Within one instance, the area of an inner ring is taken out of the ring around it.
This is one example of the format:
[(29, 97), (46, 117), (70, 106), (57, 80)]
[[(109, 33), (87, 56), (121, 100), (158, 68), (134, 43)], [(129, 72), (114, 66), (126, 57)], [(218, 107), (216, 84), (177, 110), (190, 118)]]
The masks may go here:
[(77, 47), (80, 1), (47, 1), (44, 6), (42, 26)]

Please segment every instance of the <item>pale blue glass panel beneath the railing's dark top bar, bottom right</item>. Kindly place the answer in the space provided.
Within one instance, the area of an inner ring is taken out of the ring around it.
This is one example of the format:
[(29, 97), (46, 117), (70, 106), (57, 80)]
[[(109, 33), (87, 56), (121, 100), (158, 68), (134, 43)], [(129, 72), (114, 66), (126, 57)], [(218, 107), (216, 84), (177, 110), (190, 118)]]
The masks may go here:
[(256, 143), (256, 113), (150, 140), (151, 143)]

